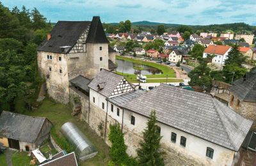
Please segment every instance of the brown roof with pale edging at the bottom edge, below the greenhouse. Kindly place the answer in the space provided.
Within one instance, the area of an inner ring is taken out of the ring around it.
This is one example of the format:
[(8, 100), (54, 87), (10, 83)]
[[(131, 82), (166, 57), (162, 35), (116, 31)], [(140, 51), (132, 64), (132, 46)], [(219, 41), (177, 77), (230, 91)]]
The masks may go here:
[(44, 166), (77, 166), (76, 155), (74, 152), (69, 153), (68, 155), (61, 156), (60, 158), (56, 158), (51, 160), (50, 162), (43, 163)]

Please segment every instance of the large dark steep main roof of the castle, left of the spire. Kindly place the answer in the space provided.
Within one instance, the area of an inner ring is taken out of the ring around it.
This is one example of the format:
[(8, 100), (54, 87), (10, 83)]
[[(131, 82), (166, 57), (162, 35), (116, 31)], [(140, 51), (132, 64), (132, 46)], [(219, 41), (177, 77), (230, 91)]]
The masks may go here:
[[(45, 39), (38, 50), (67, 54), (89, 26), (90, 21), (58, 21), (51, 31), (50, 40)], [(69, 46), (70, 49), (63, 52), (60, 47), (64, 46)]]

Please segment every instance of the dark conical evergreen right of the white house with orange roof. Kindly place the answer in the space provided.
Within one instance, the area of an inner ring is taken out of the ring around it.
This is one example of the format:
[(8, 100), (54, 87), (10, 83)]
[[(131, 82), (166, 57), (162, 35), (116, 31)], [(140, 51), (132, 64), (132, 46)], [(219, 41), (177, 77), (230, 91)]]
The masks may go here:
[(237, 44), (232, 46), (232, 49), (230, 52), (228, 52), (227, 59), (225, 60), (225, 66), (233, 63), (241, 66), (241, 64), (245, 62), (246, 57), (244, 57), (243, 54), (239, 52), (238, 47), (239, 46)]

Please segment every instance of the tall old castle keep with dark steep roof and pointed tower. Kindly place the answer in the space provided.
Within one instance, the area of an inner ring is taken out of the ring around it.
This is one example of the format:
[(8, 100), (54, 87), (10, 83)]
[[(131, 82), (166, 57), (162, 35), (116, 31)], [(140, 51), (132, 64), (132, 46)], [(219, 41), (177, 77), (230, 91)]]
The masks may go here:
[[(47, 93), (61, 103), (69, 102), (69, 80), (78, 75), (92, 79), (103, 68), (109, 70), (108, 39), (100, 17), (92, 21), (59, 21), (38, 47), (38, 69)], [(112, 64), (112, 63), (111, 63)]]

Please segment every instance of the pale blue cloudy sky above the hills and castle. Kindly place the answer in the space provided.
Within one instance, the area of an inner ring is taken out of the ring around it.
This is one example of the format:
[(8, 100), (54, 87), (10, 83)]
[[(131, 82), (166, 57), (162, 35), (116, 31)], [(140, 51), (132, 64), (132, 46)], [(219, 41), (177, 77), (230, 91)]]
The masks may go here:
[(185, 25), (245, 22), (256, 26), (256, 0), (0, 0), (4, 6), (37, 8), (47, 20), (137, 22), (148, 20)]

